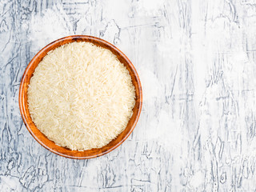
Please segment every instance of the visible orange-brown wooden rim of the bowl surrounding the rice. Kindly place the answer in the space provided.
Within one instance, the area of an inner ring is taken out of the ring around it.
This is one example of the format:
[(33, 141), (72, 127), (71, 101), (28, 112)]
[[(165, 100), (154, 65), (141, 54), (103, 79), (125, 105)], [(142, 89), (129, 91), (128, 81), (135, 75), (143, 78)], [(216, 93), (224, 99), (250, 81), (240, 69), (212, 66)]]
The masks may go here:
[[(103, 48), (110, 50), (113, 54), (117, 56), (119, 61), (126, 66), (127, 70), (129, 70), (130, 76), (132, 78), (132, 82), (135, 87), (136, 102), (133, 110), (134, 114), (130, 118), (130, 121), (126, 126), (126, 129), (123, 130), (122, 133), (119, 134), (117, 138), (115, 138), (109, 144), (107, 144), (106, 146), (103, 146), (102, 148), (78, 151), (78, 150), (70, 150), (62, 146), (57, 146), (53, 141), (46, 138), (46, 135), (42, 134), (42, 132), (38, 130), (38, 128), (34, 125), (34, 122), (30, 117), (30, 112), (28, 110), (28, 103), (27, 103), (27, 89), (30, 83), (30, 78), (33, 76), (34, 69), (38, 66), (38, 63), (42, 61), (42, 58), (50, 50), (54, 50), (58, 46), (62, 46), (69, 42), (91, 42), (91, 43), (94, 43), (94, 45), (96, 46), (102, 46)], [(32, 134), (35, 140), (37, 140), (47, 150), (50, 150), (54, 154), (58, 154), (66, 158), (77, 158), (77, 159), (96, 158), (103, 154), (107, 154), (111, 150), (114, 150), (115, 148), (120, 146), (122, 142), (124, 142), (126, 138), (128, 138), (131, 132), (134, 130), (134, 127), (138, 122), (138, 118), (142, 110), (142, 86), (133, 64), (126, 57), (126, 55), (122, 53), (121, 50), (118, 50), (117, 47), (113, 46), (109, 42), (106, 42), (100, 38), (95, 38), (95, 37), (86, 36), (86, 35), (74, 35), (74, 36), (68, 36), (66, 38), (60, 38), (54, 42), (51, 42), (49, 45), (45, 46), (42, 50), (38, 52), (38, 54), (34, 56), (34, 58), (30, 61), (29, 65), (26, 67), (26, 70), (22, 76), (22, 82), (19, 89), (18, 102), (19, 102), (19, 107), (22, 114), (22, 119), (26, 125), (27, 130), (29, 130), (30, 134)]]

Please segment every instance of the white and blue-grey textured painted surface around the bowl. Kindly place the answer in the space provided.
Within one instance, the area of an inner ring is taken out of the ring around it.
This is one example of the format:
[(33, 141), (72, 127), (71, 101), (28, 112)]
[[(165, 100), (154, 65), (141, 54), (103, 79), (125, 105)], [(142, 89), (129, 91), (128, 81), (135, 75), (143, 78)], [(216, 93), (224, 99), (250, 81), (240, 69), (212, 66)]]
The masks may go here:
[[(30, 59), (70, 34), (114, 43), (143, 87), (130, 138), (86, 161), (44, 149), (18, 110)], [(254, 191), (255, 34), (255, 0), (1, 0), (1, 191)]]

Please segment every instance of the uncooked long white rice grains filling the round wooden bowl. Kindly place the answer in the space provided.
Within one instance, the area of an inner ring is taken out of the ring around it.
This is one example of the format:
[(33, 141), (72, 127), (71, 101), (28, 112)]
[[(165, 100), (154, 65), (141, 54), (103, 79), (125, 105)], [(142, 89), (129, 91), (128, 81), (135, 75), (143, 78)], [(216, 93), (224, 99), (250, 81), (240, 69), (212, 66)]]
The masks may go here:
[(129, 71), (110, 50), (72, 42), (50, 51), (34, 70), (28, 105), (34, 124), (58, 146), (106, 146), (132, 116)]

